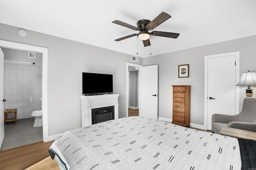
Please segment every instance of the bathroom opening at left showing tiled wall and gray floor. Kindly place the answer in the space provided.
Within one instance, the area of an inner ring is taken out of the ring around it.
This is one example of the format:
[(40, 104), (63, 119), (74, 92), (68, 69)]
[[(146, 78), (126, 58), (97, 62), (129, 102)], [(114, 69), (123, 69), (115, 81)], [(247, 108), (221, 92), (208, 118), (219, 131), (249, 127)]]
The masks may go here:
[[(1, 148), (4, 150), (42, 141), (42, 126), (33, 127), (35, 117), (38, 118), (39, 114), (36, 112), (36, 116), (32, 116), (32, 112), (42, 110), (42, 53), (8, 48), (2, 48), (2, 51), (4, 109), (18, 109), (17, 124), (10, 122), (4, 126), (5, 137)], [(38, 121), (40, 123), (40, 118)], [(19, 140), (13, 140), (14, 134)]]

